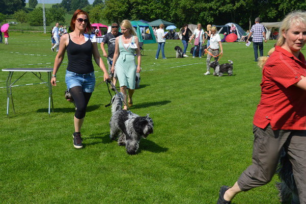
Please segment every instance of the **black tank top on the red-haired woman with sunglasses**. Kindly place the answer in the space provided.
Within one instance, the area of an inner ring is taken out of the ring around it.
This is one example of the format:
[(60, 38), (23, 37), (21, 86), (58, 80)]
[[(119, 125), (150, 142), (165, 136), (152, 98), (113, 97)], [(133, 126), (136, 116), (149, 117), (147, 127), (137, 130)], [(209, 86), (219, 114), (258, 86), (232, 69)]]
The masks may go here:
[[(69, 35), (69, 33), (68, 33)], [(88, 39), (85, 43), (79, 45), (70, 39), (66, 47), (68, 56), (67, 70), (79, 74), (90, 73), (94, 71), (92, 62), (93, 44)]]

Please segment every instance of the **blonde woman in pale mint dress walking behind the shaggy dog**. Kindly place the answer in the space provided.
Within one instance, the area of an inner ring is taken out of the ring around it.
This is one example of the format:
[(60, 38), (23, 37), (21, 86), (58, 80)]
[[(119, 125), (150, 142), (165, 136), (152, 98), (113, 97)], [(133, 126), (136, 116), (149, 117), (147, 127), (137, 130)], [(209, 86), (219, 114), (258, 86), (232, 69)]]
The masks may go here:
[[(124, 94), (124, 99), (127, 99), (128, 92), (128, 107), (132, 107), (132, 96), (135, 89), (136, 72), (141, 71), (141, 54), (138, 45), (138, 37), (129, 20), (123, 20), (120, 24), (123, 35), (116, 38), (115, 54), (113, 59), (112, 72), (116, 64), (116, 72), (120, 84), (120, 92)], [(137, 66), (135, 63), (135, 52), (137, 57)], [(127, 102), (127, 101), (126, 101)], [(127, 107), (124, 106), (125, 110)]]

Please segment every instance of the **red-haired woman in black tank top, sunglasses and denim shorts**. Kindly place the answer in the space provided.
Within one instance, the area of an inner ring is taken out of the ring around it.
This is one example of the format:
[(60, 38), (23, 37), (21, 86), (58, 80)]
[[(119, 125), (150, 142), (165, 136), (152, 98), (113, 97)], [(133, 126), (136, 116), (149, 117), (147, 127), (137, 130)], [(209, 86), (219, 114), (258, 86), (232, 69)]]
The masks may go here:
[(63, 35), (60, 41), (60, 48), (55, 57), (51, 84), (57, 85), (56, 73), (59, 70), (65, 52), (67, 50), (68, 66), (66, 70), (67, 88), (75, 102), (73, 146), (82, 148), (81, 126), (86, 114), (86, 108), (95, 87), (95, 73), (92, 63), (92, 56), (97, 65), (104, 72), (104, 81), (109, 79), (103, 61), (100, 57), (97, 42), (94, 35), (84, 34), (93, 29), (89, 23), (88, 13), (76, 10), (72, 16), (70, 26), (73, 32)]

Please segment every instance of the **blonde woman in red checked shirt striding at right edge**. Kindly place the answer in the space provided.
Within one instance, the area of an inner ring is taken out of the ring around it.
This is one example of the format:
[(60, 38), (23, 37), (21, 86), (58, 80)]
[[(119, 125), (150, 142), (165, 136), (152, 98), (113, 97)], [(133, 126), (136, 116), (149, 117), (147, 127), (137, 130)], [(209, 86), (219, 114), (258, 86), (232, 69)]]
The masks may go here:
[(269, 183), (282, 148), (292, 164), (299, 203), (306, 203), (306, 12), (282, 21), (280, 37), (270, 57), (259, 58), (261, 99), (253, 120), (252, 165), (233, 187), (222, 186), (217, 204), (229, 204), (242, 191)]

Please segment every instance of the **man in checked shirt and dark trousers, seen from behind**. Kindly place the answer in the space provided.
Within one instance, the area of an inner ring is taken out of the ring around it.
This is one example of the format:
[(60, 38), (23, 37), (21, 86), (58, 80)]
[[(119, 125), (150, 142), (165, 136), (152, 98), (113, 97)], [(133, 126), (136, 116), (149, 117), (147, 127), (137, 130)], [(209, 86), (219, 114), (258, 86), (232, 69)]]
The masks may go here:
[(260, 57), (264, 55), (264, 44), (263, 44), (262, 38), (264, 38), (265, 42), (267, 42), (265, 28), (259, 22), (260, 22), (260, 18), (259, 17), (255, 18), (255, 24), (252, 26), (252, 29), (249, 32), (247, 40), (246, 40), (246, 42), (248, 42), (249, 38), (251, 38), (253, 34), (252, 41), (253, 41), (255, 62), (257, 62), (257, 58), (258, 58), (258, 49), (259, 49)]

